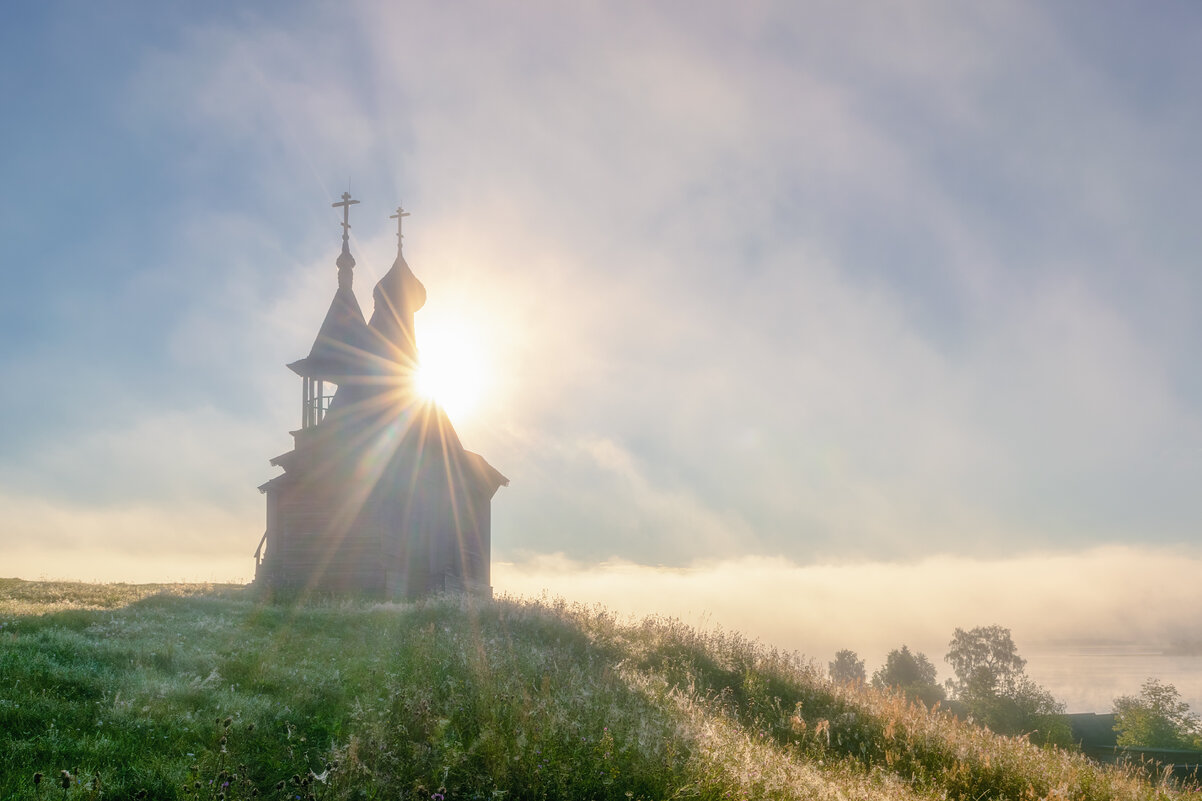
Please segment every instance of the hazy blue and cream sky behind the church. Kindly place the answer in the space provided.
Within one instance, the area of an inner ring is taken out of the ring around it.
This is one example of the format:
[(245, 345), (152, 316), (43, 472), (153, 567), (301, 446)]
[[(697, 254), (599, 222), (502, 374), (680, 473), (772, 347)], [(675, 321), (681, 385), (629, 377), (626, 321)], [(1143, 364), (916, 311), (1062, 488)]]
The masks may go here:
[(480, 386), (498, 593), (1202, 640), (1196, 4), (0, 22), (0, 575), (251, 576), (351, 191), (361, 304), (404, 204)]

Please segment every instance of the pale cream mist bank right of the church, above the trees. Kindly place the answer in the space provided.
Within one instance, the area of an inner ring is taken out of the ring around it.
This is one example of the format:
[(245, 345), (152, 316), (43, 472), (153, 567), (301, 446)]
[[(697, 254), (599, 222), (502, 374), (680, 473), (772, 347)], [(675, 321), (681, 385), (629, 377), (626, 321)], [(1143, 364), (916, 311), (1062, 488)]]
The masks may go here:
[(801, 565), (746, 558), (688, 569), (561, 557), (494, 565), (499, 593), (541, 592), (618, 612), (680, 617), (796, 649), (825, 666), (851, 648), (869, 674), (909, 645), (950, 677), (959, 627), (1010, 628), (1028, 672), (1070, 712), (1106, 712), (1149, 676), (1202, 710), (1202, 657), (1162, 652), (1202, 641), (1202, 557), (1185, 548), (1108, 546), (986, 560)]

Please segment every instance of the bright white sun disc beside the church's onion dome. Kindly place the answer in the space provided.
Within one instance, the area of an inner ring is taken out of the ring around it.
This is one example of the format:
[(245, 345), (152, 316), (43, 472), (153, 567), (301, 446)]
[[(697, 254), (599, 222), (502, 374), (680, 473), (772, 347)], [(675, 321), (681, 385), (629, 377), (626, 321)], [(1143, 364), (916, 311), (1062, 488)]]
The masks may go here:
[(417, 391), (446, 409), (452, 420), (477, 413), (488, 388), (490, 369), (475, 326), (423, 321), (417, 344)]

